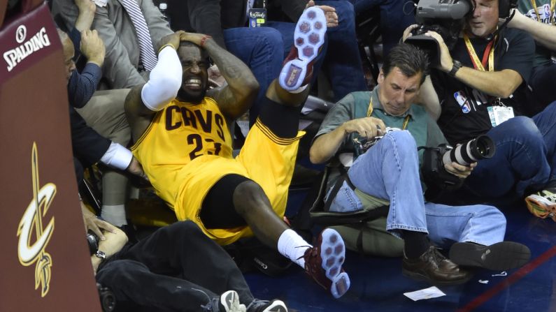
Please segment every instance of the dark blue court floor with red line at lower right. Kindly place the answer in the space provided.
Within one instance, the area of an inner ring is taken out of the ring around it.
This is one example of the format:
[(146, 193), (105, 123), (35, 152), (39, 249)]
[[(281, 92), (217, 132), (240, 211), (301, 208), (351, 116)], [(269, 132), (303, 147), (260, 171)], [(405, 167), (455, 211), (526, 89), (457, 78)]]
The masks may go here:
[[(305, 195), (290, 192), (287, 214)], [(328, 295), (297, 267), (283, 277), (250, 273), (245, 278), (255, 297), (280, 298), (290, 311), (556, 311), (556, 223), (529, 214), (525, 202), (501, 210), (508, 221), (506, 240), (529, 246), (529, 263), (507, 272), (478, 270), (463, 285), (440, 286), (442, 297), (414, 302), (404, 292), (432, 285), (403, 276), (401, 258), (352, 252), (346, 254), (344, 265), (351, 288), (340, 299)]]

